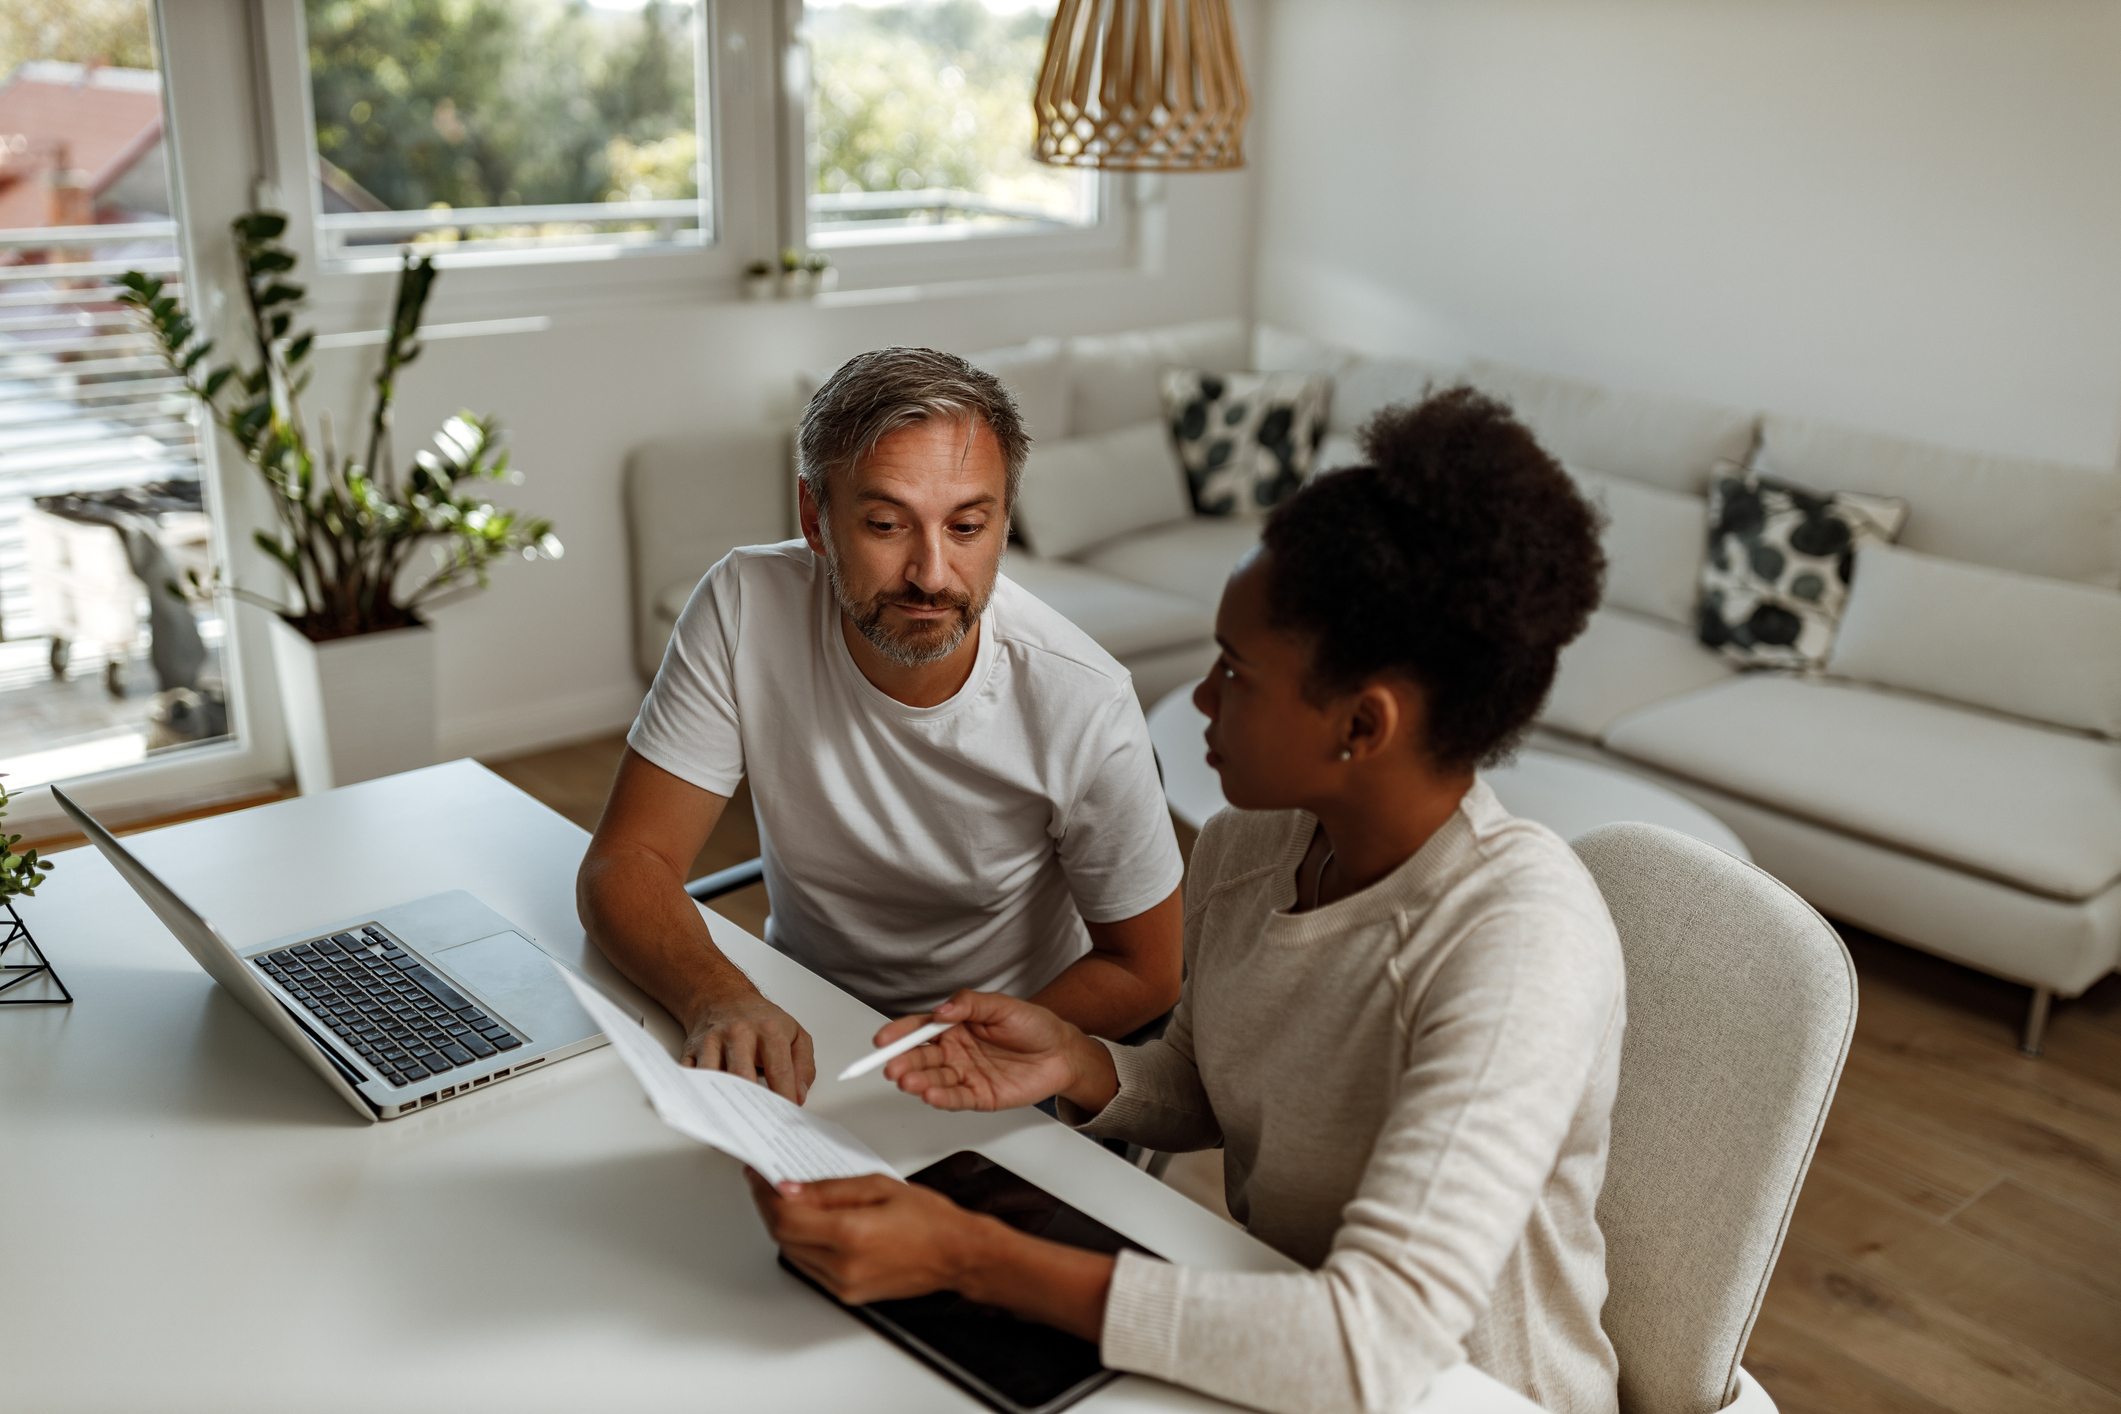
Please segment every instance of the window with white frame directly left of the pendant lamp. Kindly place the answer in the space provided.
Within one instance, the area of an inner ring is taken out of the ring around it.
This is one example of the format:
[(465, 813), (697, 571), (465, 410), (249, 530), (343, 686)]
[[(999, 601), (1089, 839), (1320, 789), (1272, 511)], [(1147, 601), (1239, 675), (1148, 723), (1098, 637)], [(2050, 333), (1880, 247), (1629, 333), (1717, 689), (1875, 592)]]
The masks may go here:
[(1118, 184), (1031, 157), (1052, 15), (1054, 0), (808, 0), (791, 66), (808, 246), (857, 282), (1120, 254)]

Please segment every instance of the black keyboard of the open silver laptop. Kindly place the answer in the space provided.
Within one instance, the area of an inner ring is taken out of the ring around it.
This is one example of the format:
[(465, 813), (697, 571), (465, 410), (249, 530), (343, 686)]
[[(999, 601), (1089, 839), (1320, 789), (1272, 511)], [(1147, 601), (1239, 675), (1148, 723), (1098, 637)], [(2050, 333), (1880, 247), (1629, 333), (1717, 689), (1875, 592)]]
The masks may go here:
[(522, 1037), (378, 926), (252, 958), (392, 1085), (513, 1051)]

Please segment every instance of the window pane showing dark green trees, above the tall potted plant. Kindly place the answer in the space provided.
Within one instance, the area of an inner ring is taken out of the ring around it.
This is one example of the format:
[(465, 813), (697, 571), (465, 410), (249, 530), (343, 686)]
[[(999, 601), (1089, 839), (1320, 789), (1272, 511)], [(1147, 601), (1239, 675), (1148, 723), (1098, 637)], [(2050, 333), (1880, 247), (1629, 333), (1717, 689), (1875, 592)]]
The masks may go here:
[(711, 240), (704, 4), (303, 0), (303, 21), (325, 261)]

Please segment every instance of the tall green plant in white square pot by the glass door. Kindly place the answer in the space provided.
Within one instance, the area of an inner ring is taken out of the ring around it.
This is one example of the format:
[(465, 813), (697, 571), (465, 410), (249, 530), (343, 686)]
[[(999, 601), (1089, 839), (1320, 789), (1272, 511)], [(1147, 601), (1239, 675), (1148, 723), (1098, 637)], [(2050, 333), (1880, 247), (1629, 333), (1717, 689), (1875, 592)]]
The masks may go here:
[[(431, 259), (405, 257), (384, 331), (369, 413), (354, 445), (331, 420), (312, 437), (301, 409), (314, 333), (295, 329), (305, 303), (286, 216), (233, 223), (250, 358), (210, 367), (206, 337), (161, 280), (127, 271), (119, 299), (153, 335), (170, 373), (242, 447), (271, 496), (276, 524), (252, 543), (284, 572), (288, 602), (229, 585), (274, 611), (274, 666), (286, 710), (295, 780), (308, 795), (428, 765), (435, 759), (435, 644), (426, 615), (484, 589), (503, 555), (558, 560), (551, 524), (494, 507), (509, 471), (501, 422), (460, 411), (399, 471), (390, 447), (397, 379), (420, 356), (420, 312), (435, 286)], [(354, 456), (354, 452), (361, 452)], [(191, 579), (191, 594), (212, 585)]]

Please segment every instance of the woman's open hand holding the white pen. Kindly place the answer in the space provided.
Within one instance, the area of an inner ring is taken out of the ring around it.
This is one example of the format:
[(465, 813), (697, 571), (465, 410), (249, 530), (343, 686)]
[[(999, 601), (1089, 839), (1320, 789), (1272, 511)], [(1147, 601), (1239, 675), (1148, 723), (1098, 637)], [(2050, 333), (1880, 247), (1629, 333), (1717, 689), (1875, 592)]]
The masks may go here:
[(1060, 1094), (1099, 1111), (1118, 1094), (1105, 1047), (1046, 1007), (999, 992), (959, 992), (929, 1015), (899, 1018), (876, 1045), (931, 1020), (957, 1026), (887, 1064), (884, 1079), (935, 1109), (1016, 1109)]

